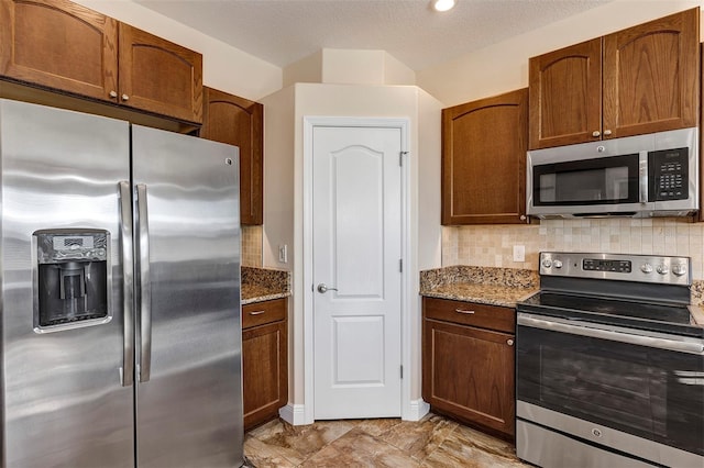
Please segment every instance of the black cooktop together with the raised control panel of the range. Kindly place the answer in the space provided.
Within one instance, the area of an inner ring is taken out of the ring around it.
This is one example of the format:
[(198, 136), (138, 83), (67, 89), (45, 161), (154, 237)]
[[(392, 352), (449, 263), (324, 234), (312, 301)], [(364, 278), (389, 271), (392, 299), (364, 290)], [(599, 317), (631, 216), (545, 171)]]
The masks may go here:
[(518, 312), (704, 338), (685, 257), (541, 253), (540, 292)]

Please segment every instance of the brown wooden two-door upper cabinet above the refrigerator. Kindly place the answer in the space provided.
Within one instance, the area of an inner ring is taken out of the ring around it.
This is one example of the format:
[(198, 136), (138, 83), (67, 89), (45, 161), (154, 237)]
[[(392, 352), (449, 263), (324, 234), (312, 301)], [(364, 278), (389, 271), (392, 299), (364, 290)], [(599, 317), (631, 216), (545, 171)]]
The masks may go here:
[(202, 120), (202, 56), (68, 0), (0, 1), (0, 75)]

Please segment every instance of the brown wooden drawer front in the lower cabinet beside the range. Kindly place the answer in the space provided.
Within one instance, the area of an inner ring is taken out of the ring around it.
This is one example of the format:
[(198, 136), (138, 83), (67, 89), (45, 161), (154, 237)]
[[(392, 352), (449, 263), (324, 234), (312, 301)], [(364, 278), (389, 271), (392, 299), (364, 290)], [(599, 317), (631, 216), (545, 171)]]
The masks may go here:
[(516, 333), (516, 310), (476, 302), (422, 298), (424, 319)]

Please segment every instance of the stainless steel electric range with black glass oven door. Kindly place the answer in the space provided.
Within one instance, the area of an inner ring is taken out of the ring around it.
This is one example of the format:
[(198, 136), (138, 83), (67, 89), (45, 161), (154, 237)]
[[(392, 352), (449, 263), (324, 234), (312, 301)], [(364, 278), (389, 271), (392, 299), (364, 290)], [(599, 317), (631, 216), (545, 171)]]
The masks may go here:
[(517, 304), (516, 450), (541, 467), (704, 466), (691, 259), (540, 254)]

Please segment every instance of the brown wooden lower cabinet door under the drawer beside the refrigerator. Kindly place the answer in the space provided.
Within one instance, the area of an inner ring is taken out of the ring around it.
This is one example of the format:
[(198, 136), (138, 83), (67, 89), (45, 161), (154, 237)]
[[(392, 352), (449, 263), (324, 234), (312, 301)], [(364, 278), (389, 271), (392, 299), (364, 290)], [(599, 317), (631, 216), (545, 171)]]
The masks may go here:
[(288, 401), (287, 323), (274, 322), (242, 332), (245, 431), (276, 417)]

